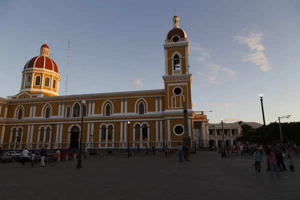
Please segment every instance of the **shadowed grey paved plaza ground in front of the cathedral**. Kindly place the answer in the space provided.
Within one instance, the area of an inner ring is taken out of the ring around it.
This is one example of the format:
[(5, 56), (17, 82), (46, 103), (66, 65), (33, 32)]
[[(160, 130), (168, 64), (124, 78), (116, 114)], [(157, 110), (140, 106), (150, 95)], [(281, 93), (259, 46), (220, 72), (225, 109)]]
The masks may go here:
[(197, 151), (190, 160), (107, 155), (83, 160), (81, 169), (75, 160), (34, 168), (0, 163), (0, 199), (300, 199), (300, 156), (297, 171), (280, 172), (280, 180), (270, 180), (264, 164), (255, 172), (250, 156)]

